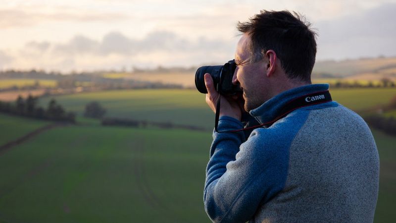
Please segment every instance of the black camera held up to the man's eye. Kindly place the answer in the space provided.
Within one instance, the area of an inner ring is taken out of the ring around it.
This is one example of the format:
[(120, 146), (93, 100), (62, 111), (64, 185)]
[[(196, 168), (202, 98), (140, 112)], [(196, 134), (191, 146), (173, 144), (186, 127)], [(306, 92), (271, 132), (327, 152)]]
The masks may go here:
[(195, 73), (195, 86), (200, 93), (207, 94), (203, 75), (209, 73), (212, 76), (216, 91), (220, 94), (234, 95), (238, 92), (242, 92), (239, 86), (232, 83), (232, 77), (234, 76), (236, 68), (237, 64), (235, 63), (235, 59), (228, 61), (224, 65), (201, 66)]

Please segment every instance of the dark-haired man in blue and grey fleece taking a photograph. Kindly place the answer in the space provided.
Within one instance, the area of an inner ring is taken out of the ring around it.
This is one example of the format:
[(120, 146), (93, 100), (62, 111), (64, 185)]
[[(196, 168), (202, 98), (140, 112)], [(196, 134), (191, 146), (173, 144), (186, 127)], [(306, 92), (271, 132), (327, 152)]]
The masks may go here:
[[(311, 84), (316, 42), (309, 24), (289, 11), (261, 11), (238, 29), (233, 83), (243, 89), (244, 104), (220, 96), (204, 76), (213, 111), (222, 98), (204, 187), (210, 219), (372, 222), (377, 147), (359, 115), (326, 101), (327, 84)], [(247, 140), (243, 131), (230, 132), (243, 128), (244, 110), (265, 123)]]

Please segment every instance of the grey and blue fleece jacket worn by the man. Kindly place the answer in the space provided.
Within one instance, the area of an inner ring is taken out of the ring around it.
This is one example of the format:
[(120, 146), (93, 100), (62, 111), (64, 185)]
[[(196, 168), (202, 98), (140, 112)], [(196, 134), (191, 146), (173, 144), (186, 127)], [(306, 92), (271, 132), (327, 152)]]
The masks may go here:
[[(292, 99), (328, 89), (307, 85), (250, 111), (274, 119)], [(220, 118), (218, 129), (243, 128)], [(204, 205), (217, 223), (373, 222), (378, 151), (366, 122), (337, 102), (297, 109), (268, 128), (213, 133)]]

